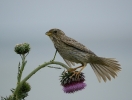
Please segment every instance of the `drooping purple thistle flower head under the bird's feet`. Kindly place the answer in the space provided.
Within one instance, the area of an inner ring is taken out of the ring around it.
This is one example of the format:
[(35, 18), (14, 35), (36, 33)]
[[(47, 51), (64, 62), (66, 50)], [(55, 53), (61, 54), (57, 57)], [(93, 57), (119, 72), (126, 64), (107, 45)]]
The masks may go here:
[(60, 82), (65, 93), (74, 93), (86, 87), (86, 84), (84, 83), (85, 79), (83, 73), (80, 73), (79, 77), (72, 75), (73, 73), (70, 72), (63, 72), (61, 75), (62, 78)]

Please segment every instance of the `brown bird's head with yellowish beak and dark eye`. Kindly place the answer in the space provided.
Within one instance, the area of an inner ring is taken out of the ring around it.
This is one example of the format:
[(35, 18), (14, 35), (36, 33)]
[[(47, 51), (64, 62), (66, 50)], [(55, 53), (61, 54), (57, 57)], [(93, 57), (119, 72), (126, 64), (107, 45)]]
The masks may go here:
[(65, 35), (65, 33), (63, 31), (61, 31), (60, 29), (56, 29), (56, 28), (50, 29), (45, 34), (48, 35), (51, 39), (52, 38), (59, 38), (59, 37)]

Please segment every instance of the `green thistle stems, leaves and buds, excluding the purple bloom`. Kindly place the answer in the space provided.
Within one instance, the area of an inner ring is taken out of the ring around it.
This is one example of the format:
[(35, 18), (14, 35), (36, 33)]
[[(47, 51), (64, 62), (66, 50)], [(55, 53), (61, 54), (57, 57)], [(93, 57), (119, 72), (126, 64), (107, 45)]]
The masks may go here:
[[(68, 66), (66, 66), (65, 64), (61, 63), (61, 62), (57, 62), (54, 61), (55, 56), (53, 58), (52, 61), (49, 62), (45, 62), (42, 65), (39, 65), (36, 69), (34, 69), (31, 73), (29, 73), (23, 80), (21, 80), (22, 77), (22, 73), (24, 70), (24, 67), (27, 63), (26, 61), (26, 56), (29, 54), (30, 51), (30, 45), (28, 43), (22, 43), (22, 44), (17, 44), (14, 48), (14, 51), (17, 54), (20, 54), (22, 62), (18, 64), (18, 74), (17, 74), (17, 86), (14, 89), (11, 89), (12, 95), (10, 95), (9, 97), (1, 97), (1, 100), (25, 100), (25, 97), (28, 96), (29, 91), (31, 90), (31, 86), (29, 83), (27, 83), (26, 81), (32, 76), (34, 75), (37, 71), (39, 71), (41, 68), (44, 68), (50, 64), (57, 64), (60, 65), (66, 69), (69, 69)], [(50, 68), (56, 68), (56, 69), (60, 69), (58, 67), (51, 67)]]

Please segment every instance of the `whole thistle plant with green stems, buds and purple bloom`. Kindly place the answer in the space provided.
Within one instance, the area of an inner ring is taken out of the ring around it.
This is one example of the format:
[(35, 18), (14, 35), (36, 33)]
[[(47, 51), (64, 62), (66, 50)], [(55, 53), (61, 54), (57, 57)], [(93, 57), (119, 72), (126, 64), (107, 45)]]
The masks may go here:
[[(27, 82), (29, 78), (31, 78), (40, 69), (45, 67), (61, 69), (60, 67), (52, 67), (50, 66), (50, 64), (60, 65), (66, 70), (69, 69), (69, 67), (65, 65), (64, 63), (54, 61), (56, 53), (57, 53), (56, 51), (51, 61), (48, 61), (39, 65), (38, 67), (36, 67), (36, 69), (30, 72), (24, 79), (22, 79), (22, 74), (27, 63), (26, 57), (29, 54), (30, 50), (31, 50), (31, 47), (28, 43), (17, 44), (15, 46), (14, 51), (17, 54), (19, 54), (21, 57), (21, 62), (18, 63), (16, 88), (12, 88), (11, 89), (12, 94), (7, 97), (1, 97), (1, 100), (25, 100), (25, 98), (28, 96), (29, 91), (31, 90), (31, 86)], [(73, 75), (73, 73), (71, 72), (63, 71), (60, 77), (61, 77), (60, 82), (61, 82), (61, 85), (63, 86), (63, 91), (65, 93), (73, 93), (75, 91), (84, 89), (86, 86), (86, 84), (84, 83), (85, 77), (83, 73), (80, 73), (80, 75), (76, 77), (76, 75)]]

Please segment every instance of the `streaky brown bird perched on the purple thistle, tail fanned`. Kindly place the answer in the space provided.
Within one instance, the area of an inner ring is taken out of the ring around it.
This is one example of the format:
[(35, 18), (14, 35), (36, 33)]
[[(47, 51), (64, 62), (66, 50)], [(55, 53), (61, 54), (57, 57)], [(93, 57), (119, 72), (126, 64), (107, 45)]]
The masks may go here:
[[(73, 38), (65, 35), (65, 33), (57, 28), (50, 29), (45, 33), (52, 40), (56, 51), (64, 59), (70, 67), (69, 72), (79, 75), (81, 71), (90, 64), (99, 82), (104, 82), (115, 78), (117, 73), (121, 71), (120, 64), (114, 58), (105, 58), (97, 56), (83, 44)], [(76, 68), (72, 68), (76, 64), (81, 64)], [(75, 71), (80, 68), (79, 71)]]

